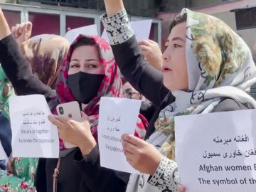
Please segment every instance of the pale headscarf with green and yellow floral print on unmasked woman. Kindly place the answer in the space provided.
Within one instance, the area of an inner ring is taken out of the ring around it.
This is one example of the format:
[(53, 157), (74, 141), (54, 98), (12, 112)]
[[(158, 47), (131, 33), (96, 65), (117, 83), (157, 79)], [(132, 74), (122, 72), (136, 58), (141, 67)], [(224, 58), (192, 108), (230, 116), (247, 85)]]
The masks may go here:
[(250, 48), (218, 18), (183, 9), (186, 20), (186, 63), (188, 92), (173, 92), (176, 102), (161, 110), (156, 132), (167, 137), (161, 153), (175, 159), (174, 117), (212, 112), (225, 97), (249, 108), (256, 102), (246, 92), (256, 82)]

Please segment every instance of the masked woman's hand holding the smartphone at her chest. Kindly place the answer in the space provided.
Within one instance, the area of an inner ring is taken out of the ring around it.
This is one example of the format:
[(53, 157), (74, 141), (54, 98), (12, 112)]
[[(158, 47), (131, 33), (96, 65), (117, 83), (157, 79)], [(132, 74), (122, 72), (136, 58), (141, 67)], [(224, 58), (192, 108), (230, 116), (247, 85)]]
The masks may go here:
[(55, 115), (49, 116), (49, 121), (57, 126), (59, 137), (65, 142), (77, 145), (83, 155), (87, 155), (96, 146), (96, 141), (90, 131), (90, 123), (85, 113), (82, 113), (83, 122)]

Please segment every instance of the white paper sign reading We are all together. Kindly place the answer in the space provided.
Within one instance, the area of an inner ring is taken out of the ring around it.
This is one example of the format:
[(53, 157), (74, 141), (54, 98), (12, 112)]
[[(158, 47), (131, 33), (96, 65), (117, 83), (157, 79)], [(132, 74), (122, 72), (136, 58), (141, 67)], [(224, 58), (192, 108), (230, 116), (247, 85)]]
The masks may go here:
[(58, 158), (57, 128), (43, 95), (13, 96), (9, 100), (14, 157)]

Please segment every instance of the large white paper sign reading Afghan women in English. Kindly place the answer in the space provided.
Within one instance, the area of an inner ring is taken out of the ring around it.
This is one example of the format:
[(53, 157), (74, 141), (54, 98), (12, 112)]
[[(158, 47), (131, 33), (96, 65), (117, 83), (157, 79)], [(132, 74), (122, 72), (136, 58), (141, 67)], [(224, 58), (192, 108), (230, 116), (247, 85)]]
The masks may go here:
[(255, 192), (256, 110), (175, 118), (176, 161), (187, 192)]

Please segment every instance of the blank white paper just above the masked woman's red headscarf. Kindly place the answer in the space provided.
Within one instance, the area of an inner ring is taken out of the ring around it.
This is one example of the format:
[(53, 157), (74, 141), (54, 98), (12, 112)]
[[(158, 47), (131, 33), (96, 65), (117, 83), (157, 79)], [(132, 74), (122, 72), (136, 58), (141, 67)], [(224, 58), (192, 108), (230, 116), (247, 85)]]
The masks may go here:
[(70, 43), (73, 43), (73, 41), (75, 41), (75, 38), (77, 38), (80, 34), (85, 36), (97, 36), (97, 26), (90, 25), (80, 28), (74, 28), (68, 31), (64, 37), (68, 39)]

